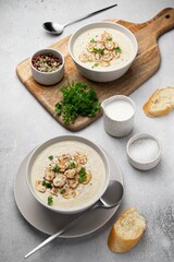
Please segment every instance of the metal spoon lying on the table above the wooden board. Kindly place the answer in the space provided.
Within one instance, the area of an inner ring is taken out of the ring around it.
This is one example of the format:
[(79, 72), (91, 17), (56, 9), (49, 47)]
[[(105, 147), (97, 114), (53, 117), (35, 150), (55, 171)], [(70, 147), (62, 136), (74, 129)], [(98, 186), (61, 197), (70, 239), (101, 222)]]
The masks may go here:
[(98, 13), (100, 13), (100, 12), (102, 12), (102, 11), (105, 11), (105, 10), (108, 10), (108, 9), (111, 9), (111, 8), (114, 8), (114, 7), (116, 7), (116, 5), (117, 5), (117, 3), (112, 4), (112, 5), (110, 5), (110, 7), (107, 7), (107, 8), (104, 8), (104, 9), (100, 9), (100, 10), (95, 11), (95, 12), (92, 12), (92, 13), (85, 14), (85, 15), (80, 16), (80, 17), (77, 19), (77, 20), (70, 21), (70, 22), (66, 23), (66, 24), (58, 24), (58, 23), (54, 23), (54, 22), (46, 22), (46, 23), (42, 24), (42, 27), (44, 27), (48, 33), (50, 33), (50, 34), (60, 35), (60, 34), (63, 33), (63, 29), (64, 29), (67, 25), (74, 24), (75, 22), (82, 21), (82, 20), (84, 20), (84, 19), (88, 19), (88, 17), (90, 17), (90, 16), (92, 16), (92, 15), (95, 15), (95, 14), (98, 14)]

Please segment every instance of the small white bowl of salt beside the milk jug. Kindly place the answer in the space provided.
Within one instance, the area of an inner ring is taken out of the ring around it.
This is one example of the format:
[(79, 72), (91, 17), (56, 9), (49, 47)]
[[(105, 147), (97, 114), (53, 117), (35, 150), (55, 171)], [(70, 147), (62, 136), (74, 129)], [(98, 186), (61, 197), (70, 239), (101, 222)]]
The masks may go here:
[(136, 134), (127, 143), (127, 157), (133, 167), (149, 170), (161, 159), (161, 145), (151, 134)]

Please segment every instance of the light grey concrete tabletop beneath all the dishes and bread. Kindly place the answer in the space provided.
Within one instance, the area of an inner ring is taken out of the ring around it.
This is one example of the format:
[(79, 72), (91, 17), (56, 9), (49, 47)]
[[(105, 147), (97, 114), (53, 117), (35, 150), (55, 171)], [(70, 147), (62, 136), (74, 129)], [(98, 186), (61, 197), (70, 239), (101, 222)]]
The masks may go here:
[[(36, 145), (59, 134), (71, 134), (54, 121), (18, 81), (16, 64), (35, 50), (73, 33), (87, 23), (66, 27), (61, 36), (44, 32), (45, 21), (64, 23), (82, 14), (112, 4), (108, 0), (1, 0), (0, 1), (0, 261), (24, 261), (24, 254), (47, 236), (33, 228), (18, 212), (13, 180), (23, 158)], [(174, 8), (174, 0), (119, 0), (119, 7), (88, 20), (122, 19), (145, 22), (162, 9)], [(174, 112), (150, 119), (142, 105), (157, 88), (174, 86), (174, 29), (159, 38), (161, 67), (130, 97), (137, 106), (135, 128), (124, 139), (114, 139), (103, 130), (102, 118), (77, 132), (105, 147), (117, 159), (124, 177), (122, 205), (100, 234), (82, 239), (55, 239), (28, 261), (174, 261)], [(162, 146), (162, 159), (150, 171), (138, 171), (126, 158), (126, 143), (138, 132), (156, 135)], [(107, 247), (110, 228), (126, 207), (135, 206), (147, 218), (147, 231), (139, 245), (125, 254)], [(51, 223), (51, 222), (50, 222)]]

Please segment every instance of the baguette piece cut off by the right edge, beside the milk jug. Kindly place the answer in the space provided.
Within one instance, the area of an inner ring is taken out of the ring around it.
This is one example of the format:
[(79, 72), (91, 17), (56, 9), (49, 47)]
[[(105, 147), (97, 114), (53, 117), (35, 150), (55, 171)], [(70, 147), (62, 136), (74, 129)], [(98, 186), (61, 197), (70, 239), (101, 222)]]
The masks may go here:
[(174, 87), (157, 90), (142, 109), (148, 117), (167, 115), (174, 108)]

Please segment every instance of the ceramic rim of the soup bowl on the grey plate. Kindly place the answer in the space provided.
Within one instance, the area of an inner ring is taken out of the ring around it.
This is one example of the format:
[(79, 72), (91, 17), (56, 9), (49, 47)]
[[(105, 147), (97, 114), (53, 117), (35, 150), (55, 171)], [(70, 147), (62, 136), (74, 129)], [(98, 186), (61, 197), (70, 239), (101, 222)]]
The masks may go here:
[[(89, 145), (100, 155), (100, 157), (104, 164), (104, 167), (105, 167), (105, 182), (104, 182), (102, 190), (100, 191), (100, 194), (98, 194), (98, 198), (96, 198), (92, 202), (89, 202), (87, 205), (83, 206), (82, 209), (73, 209), (73, 210), (67, 211), (67, 210), (58, 209), (58, 207), (54, 207), (51, 205), (47, 205), (35, 193), (35, 189), (32, 186), (30, 174), (29, 174), (29, 168), (30, 168), (32, 162), (34, 162), (35, 157), (39, 154), (39, 152), (41, 152), (41, 150), (45, 150), (48, 146), (50, 146), (51, 144), (62, 142), (62, 141), (77, 141), (77, 142), (82, 142), (82, 143)], [(110, 166), (109, 166), (109, 160), (108, 160), (108, 157), (107, 157), (107, 154), (104, 153), (104, 151), (100, 146), (95, 144), (94, 142), (91, 142), (85, 138), (77, 136), (77, 135), (59, 135), (59, 136), (52, 138), (50, 140), (47, 140), (46, 142), (41, 143), (39, 146), (37, 146), (33, 151), (33, 153), (29, 155), (29, 158), (28, 158), (27, 165), (26, 165), (26, 182), (27, 182), (27, 187), (28, 187), (30, 193), (33, 194), (33, 196), (45, 207), (47, 207), (51, 211), (58, 212), (58, 213), (62, 213), (62, 214), (75, 214), (75, 213), (79, 213), (79, 212), (83, 212), (83, 211), (89, 209), (105, 192), (109, 181), (110, 181)]]

